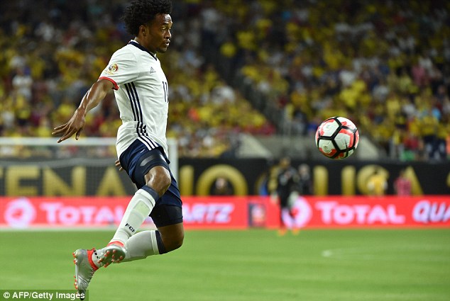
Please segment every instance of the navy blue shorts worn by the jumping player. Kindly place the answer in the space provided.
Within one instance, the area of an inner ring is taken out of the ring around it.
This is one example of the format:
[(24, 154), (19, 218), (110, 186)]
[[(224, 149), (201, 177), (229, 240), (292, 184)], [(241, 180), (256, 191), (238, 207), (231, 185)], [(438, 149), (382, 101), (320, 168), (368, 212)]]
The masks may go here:
[(182, 222), (182, 200), (178, 184), (170, 171), (170, 161), (164, 154), (162, 147), (148, 149), (140, 140), (133, 142), (119, 158), (122, 168), (131, 181), (140, 189), (146, 185), (145, 175), (154, 166), (163, 166), (168, 169), (172, 183), (168, 190), (155, 202), (155, 208), (150, 212), (156, 227), (175, 225)]

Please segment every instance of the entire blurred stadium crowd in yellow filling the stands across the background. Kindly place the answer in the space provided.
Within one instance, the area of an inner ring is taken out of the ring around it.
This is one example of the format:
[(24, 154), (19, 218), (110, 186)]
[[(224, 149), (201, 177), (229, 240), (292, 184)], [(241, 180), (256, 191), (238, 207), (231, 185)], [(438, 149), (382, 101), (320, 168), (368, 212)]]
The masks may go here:
[[(50, 137), (131, 38), (119, 19), (124, 4), (7, 2), (0, 135)], [(353, 120), (390, 157), (449, 156), (446, 1), (173, 2), (172, 44), (160, 59), (170, 82), (168, 135), (180, 156), (224, 154), (239, 132), (312, 135), (332, 115)], [(248, 86), (263, 101), (252, 106)], [(111, 93), (84, 135), (114, 136), (118, 123)]]

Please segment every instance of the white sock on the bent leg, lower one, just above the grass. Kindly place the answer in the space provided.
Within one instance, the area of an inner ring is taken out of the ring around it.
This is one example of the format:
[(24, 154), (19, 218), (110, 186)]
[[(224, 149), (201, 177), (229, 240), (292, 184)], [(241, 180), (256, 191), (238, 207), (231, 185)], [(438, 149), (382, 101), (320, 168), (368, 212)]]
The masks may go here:
[(123, 261), (145, 259), (147, 256), (160, 254), (155, 230), (136, 233), (128, 239), (125, 248), (127, 253)]

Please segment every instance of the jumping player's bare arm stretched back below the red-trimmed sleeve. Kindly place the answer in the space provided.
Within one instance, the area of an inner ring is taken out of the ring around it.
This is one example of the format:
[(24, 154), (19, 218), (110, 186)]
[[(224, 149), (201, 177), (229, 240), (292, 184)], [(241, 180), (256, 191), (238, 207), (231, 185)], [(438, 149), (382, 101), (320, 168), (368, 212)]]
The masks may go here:
[(99, 79), (91, 86), (89, 91), (84, 94), (82, 101), (79, 103), (75, 113), (73, 113), (72, 118), (70, 118), (67, 123), (55, 127), (53, 130), (53, 136), (62, 134), (62, 137), (57, 140), (58, 143), (72, 137), (74, 134), (75, 139), (78, 140), (79, 134), (82, 132), (86, 123), (85, 117), (87, 112), (98, 106), (100, 101), (106, 96), (106, 93), (111, 91), (113, 86), (114, 84), (106, 79)]

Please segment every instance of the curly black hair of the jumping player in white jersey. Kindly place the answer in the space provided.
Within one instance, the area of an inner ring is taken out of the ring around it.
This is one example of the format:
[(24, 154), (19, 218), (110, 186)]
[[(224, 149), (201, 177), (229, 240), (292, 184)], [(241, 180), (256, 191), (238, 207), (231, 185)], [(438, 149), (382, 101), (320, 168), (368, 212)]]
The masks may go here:
[(139, 26), (148, 24), (160, 13), (172, 13), (170, 0), (134, 0), (125, 8), (122, 20), (131, 35), (138, 35)]

